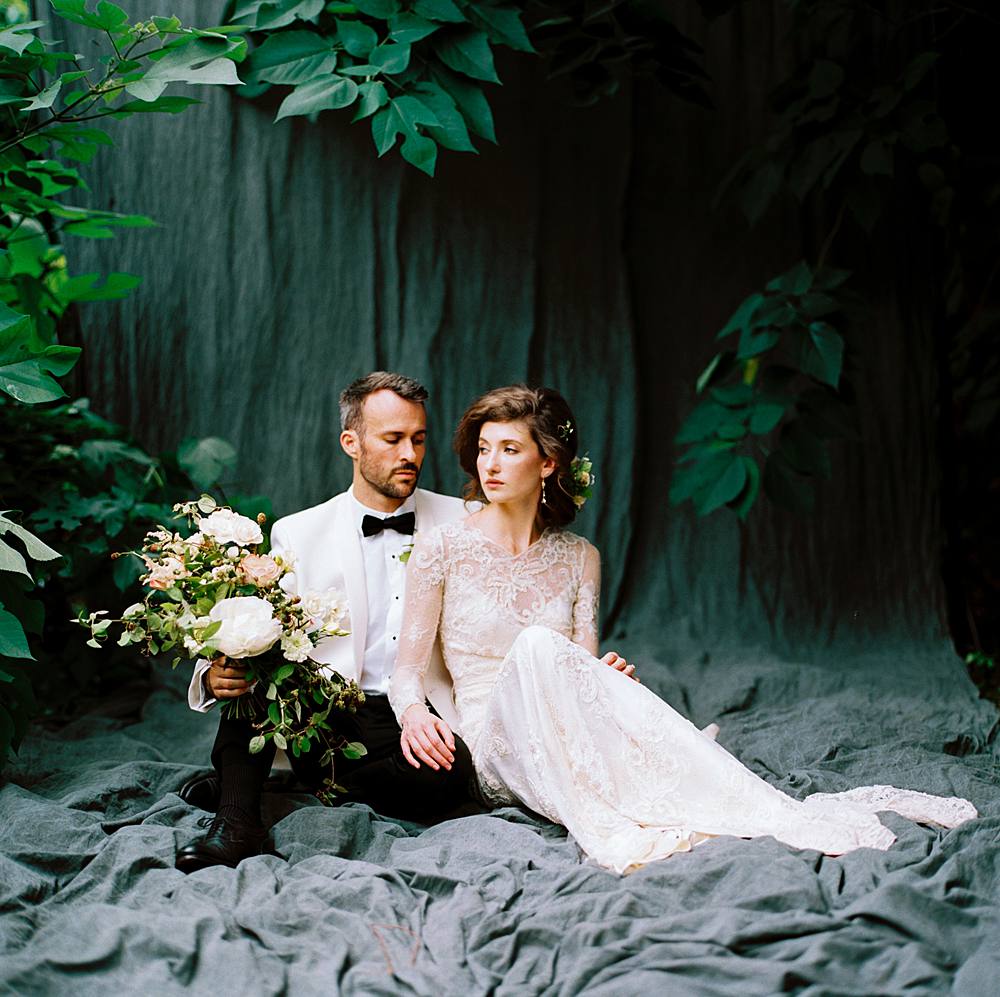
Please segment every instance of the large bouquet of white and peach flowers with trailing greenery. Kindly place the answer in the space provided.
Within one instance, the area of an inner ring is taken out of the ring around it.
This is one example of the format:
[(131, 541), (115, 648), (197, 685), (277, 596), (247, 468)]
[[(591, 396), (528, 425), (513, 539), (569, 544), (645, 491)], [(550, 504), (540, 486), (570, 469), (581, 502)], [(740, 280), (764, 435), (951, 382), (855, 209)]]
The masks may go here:
[(291, 595), (281, 580), (290, 559), (258, 553), (264, 543), (263, 513), (254, 521), (210, 495), (174, 506), (195, 530), (190, 536), (160, 526), (146, 534), (140, 551), (113, 554), (139, 557), (148, 590), (142, 602), (121, 617), (104, 610), (76, 621), (90, 630), (90, 647), (100, 647), (114, 625), (118, 644), (141, 645), (144, 654), (173, 650), (176, 668), (182, 657), (212, 658), (224, 654), (249, 665), (247, 679), (263, 690), (266, 715), (247, 693), (222, 708), (251, 716), (257, 734), (250, 751), (268, 741), (296, 757), (313, 743), (324, 761), (339, 750), (348, 758), (365, 753), (363, 745), (334, 735), (327, 718), (332, 710), (353, 711), (364, 702), (354, 682), (317, 664), (310, 652), (322, 641), (345, 637), (346, 602), (336, 590)]

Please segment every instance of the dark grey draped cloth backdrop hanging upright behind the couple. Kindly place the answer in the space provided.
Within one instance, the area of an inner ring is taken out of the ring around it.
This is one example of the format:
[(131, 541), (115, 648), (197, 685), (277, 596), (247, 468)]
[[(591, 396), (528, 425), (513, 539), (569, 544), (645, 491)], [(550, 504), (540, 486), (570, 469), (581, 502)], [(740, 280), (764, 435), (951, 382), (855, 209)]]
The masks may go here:
[[(221, 10), (169, 12), (204, 25)], [(83, 390), (154, 449), (227, 437), (240, 488), (288, 512), (347, 483), (337, 394), (370, 369), (430, 388), (422, 483), (451, 492), (464, 406), (495, 385), (551, 384), (599, 475), (577, 525), (604, 555), (609, 637), (802, 657), (875, 637), (947, 653), (927, 236), (913, 221), (896, 219), (858, 273), (863, 442), (837, 450), (815, 517), (762, 503), (740, 529), (667, 502), (673, 436), (716, 330), (824, 235), (791, 203), (752, 232), (734, 207), (711, 209), (766, 131), (766, 92), (793, 54), (780, 21), (774, 3), (681, 25), (704, 40), (715, 111), (650, 83), (572, 108), (537, 59), (503, 59), (499, 147), (444, 153), (434, 180), (376, 159), (366, 125), (342, 115), (273, 124), (273, 95), (206, 88), (178, 118), (113, 126), (91, 203), (161, 227), (70, 246), (74, 272), (144, 279), (82, 314)]]

